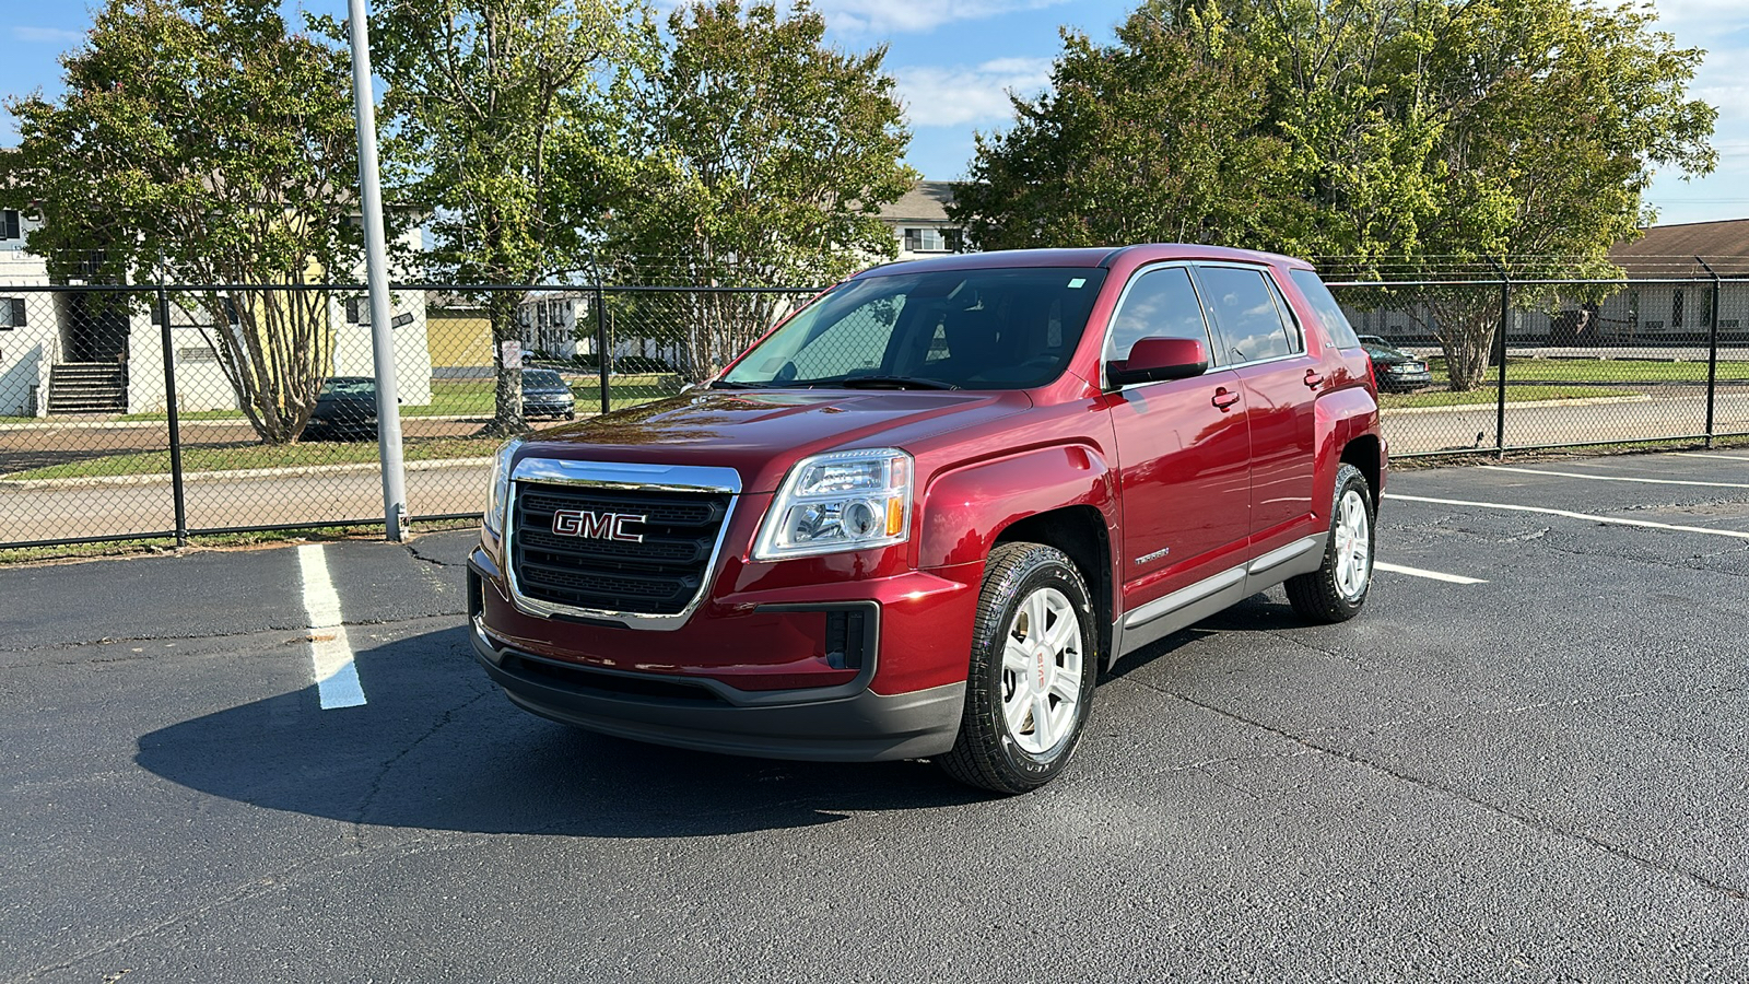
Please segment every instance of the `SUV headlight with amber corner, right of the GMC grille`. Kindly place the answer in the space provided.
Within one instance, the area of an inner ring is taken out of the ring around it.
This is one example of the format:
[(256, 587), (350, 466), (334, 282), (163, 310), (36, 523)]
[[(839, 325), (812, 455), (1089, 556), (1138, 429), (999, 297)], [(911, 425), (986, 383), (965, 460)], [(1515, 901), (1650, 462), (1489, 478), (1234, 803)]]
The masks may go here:
[(902, 543), (911, 534), (911, 455), (899, 448), (803, 459), (771, 499), (756, 560)]

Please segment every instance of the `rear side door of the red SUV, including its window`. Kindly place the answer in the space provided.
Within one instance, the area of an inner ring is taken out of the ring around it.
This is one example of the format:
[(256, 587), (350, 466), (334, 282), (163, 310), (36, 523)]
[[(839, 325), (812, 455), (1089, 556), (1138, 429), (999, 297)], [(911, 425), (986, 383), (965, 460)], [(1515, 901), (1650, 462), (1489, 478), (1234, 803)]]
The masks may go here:
[(1251, 424), (1251, 543), (1268, 553), (1317, 532), (1317, 392), (1324, 371), (1266, 266), (1196, 264), (1223, 355)]

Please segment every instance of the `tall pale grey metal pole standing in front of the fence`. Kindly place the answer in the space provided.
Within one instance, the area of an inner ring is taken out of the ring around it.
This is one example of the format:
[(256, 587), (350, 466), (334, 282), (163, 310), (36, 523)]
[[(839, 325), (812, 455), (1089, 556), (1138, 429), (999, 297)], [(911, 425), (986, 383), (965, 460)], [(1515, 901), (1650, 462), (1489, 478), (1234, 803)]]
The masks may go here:
[(376, 165), (376, 102), (371, 93), (371, 23), (366, 0), (346, 0), (352, 19), (352, 105), (359, 128), (359, 203), (364, 207), (364, 264), (371, 285), (371, 352), (376, 361), (376, 446), (383, 464), (383, 527), (408, 538), (408, 476), (401, 460), (401, 387), (388, 320), (388, 250), (383, 242), (383, 182)]

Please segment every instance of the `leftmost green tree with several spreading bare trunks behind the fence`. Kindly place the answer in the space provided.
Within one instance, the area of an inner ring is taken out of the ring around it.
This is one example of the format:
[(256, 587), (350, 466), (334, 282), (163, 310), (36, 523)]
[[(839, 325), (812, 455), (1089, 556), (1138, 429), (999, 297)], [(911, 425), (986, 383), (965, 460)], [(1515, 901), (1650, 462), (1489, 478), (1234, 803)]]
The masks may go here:
[[(297, 284), (357, 263), (345, 53), (276, 0), (110, 0), (61, 58), (66, 93), (7, 100), (23, 142), (0, 196), (37, 203), (56, 277)], [(100, 252), (93, 252), (100, 250)], [(332, 369), (329, 298), (192, 294), (262, 439), (297, 439)]]

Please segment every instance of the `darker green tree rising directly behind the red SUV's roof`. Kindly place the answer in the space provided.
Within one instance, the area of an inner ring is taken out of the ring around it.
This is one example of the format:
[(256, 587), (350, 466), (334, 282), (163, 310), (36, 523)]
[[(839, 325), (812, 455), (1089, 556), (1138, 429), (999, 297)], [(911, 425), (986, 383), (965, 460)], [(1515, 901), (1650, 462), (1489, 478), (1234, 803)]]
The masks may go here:
[(1268, 81), (1219, 19), (1198, 33), (1144, 7), (1112, 46), (1065, 32), (1051, 86), (976, 135), (948, 212), (978, 249), (1268, 240), (1305, 212), (1275, 191), (1287, 142)]

